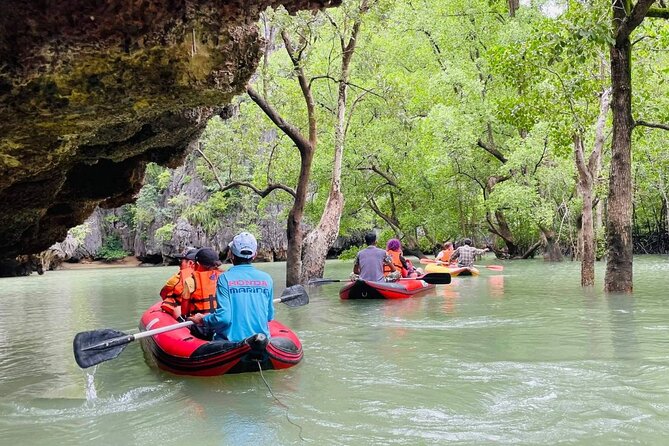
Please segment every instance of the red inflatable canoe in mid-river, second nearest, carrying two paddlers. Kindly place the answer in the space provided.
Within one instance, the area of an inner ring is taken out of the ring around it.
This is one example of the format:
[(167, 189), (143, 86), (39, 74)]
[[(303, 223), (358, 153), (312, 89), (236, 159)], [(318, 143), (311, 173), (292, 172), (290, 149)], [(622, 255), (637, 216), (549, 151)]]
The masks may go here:
[(356, 280), (340, 291), (341, 299), (406, 299), (433, 289), (435, 286), (419, 279), (402, 279), (399, 282), (370, 282)]

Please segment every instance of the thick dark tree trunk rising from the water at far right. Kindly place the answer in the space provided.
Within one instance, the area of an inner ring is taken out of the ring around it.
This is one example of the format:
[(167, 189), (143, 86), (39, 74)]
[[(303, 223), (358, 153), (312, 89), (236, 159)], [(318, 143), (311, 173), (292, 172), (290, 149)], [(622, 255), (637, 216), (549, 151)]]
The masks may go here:
[(629, 37), (611, 46), (613, 140), (606, 215), (608, 255), (604, 290), (631, 293), (632, 74)]

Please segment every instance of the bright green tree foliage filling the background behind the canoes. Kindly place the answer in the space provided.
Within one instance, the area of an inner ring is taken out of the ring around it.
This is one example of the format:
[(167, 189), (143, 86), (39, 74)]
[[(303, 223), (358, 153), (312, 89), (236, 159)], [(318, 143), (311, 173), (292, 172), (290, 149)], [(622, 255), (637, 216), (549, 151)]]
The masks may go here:
[[(371, 4), (350, 70), (340, 233), (374, 227), (386, 240), (400, 232), (405, 245), (412, 239), (423, 250), (464, 236), (503, 246), (498, 234), (504, 224), (510, 232), (505, 237), (519, 251), (540, 240), (541, 231), (573, 240), (582, 208), (573, 136), (583, 137), (589, 156), (599, 95), (610, 85), (610, 4), (568, 2), (549, 16), (541, 9), (546, 2), (524, 2), (513, 19), (501, 1)], [(278, 30), (299, 44), (301, 68), (311, 79), (318, 149), (305, 206), (309, 225), (318, 223), (328, 197), (339, 45), (358, 7), (345, 0), (326, 12), (268, 11), (265, 17), (277, 32), (254, 88), (304, 134), (305, 100)], [(635, 119), (666, 123), (669, 26), (646, 20), (638, 33)], [(247, 96), (234, 106), (238, 113), (232, 118), (210, 120), (200, 141), (204, 156), (191, 158), (205, 198), (193, 203), (182, 193), (164, 197), (172, 175), (151, 164), (145, 188), (122, 221), (130, 216), (140, 234), (160, 227), (160, 237), (167, 237), (177, 218), (209, 235), (222, 229), (224, 219), (235, 229), (285, 219), (293, 198), (283, 191), (263, 199), (246, 187), (221, 191), (220, 183), (233, 181), (259, 189), (297, 183), (294, 142)], [(605, 133), (610, 128), (608, 118)], [(666, 145), (661, 131), (636, 128), (635, 233), (665, 225), (660, 216), (669, 196)], [(609, 158), (604, 151), (594, 191), (600, 202), (606, 200)], [(191, 179), (185, 175), (182, 183)]]

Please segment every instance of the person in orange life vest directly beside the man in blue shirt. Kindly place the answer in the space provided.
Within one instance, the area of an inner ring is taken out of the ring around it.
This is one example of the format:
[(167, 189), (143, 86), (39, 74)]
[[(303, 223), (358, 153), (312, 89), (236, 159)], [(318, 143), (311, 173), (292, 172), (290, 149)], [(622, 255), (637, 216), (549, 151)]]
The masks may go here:
[[(195, 254), (193, 271), (194, 289), (184, 288), (181, 295), (181, 314), (189, 317), (193, 314), (209, 314), (216, 310), (216, 283), (222, 271), (218, 254), (211, 248), (201, 248)], [(192, 326), (191, 333), (202, 339), (210, 340), (214, 333), (206, 327)]]

